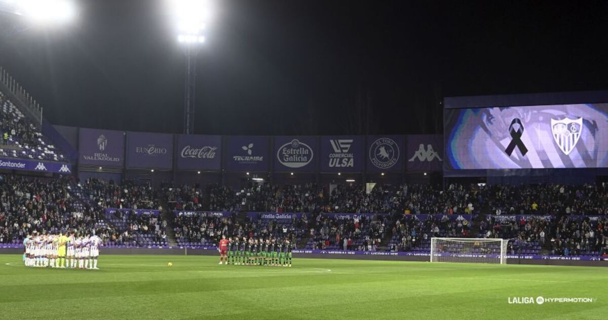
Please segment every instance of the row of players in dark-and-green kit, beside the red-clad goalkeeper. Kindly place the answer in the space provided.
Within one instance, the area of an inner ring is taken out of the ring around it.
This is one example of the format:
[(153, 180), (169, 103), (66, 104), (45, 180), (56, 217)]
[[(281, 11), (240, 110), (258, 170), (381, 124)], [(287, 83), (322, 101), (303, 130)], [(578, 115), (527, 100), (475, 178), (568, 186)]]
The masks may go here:
[(291, 267), (292, 244), (281, 239), (228, 239), (228, 262), (233, 265)]

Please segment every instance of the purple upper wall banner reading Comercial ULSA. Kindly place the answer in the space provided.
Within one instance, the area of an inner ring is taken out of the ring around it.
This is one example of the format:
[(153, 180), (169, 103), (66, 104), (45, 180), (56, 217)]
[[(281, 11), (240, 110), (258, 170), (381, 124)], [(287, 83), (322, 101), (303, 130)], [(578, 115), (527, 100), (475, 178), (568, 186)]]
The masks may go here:
[(320, 171), (363, 171), (364, 146), (365, 137), (362, 135), (325, 135), (321, 137)]

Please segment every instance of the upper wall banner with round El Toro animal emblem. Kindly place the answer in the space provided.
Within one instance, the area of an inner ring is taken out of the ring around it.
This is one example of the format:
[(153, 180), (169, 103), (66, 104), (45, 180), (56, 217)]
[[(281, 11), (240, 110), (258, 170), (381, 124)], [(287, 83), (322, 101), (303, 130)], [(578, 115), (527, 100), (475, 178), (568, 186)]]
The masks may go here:
[(401, 172), (403, 171), (403, 136), (402, 135), (368, 135), (367, 136), (367, 171)]

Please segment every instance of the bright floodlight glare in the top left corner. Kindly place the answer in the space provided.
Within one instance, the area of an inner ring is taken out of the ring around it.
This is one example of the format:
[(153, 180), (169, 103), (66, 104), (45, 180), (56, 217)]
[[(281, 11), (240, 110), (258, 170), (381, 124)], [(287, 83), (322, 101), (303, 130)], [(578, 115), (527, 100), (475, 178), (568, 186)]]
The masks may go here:
[(77, 14), (74, 0), (0, 0), (2, 11), (10, 12), (36, 24), (66, 23)]

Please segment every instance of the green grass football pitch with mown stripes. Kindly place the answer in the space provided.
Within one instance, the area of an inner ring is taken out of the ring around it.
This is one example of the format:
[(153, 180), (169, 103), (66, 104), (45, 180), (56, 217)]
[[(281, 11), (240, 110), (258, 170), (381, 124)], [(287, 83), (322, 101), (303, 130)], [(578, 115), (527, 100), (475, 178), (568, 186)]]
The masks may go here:
[[(173, 267), (167, 266), (173, 262)], [(101, 256), (100, 270), (0, 254), (1, 319), (607, 319), (608, 269), (211, 256)], [(509, 297), (593, 298), (509, 304)]]

